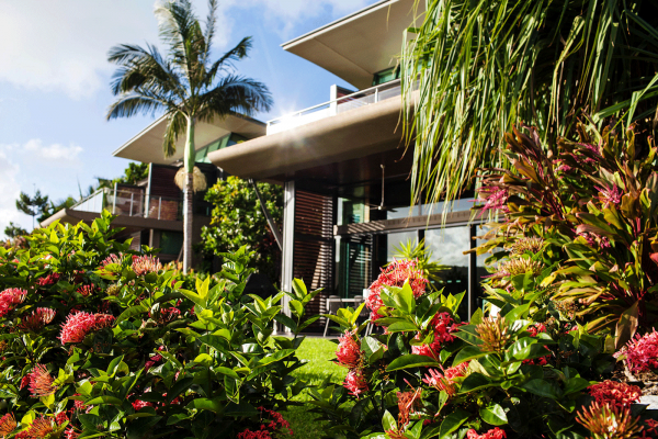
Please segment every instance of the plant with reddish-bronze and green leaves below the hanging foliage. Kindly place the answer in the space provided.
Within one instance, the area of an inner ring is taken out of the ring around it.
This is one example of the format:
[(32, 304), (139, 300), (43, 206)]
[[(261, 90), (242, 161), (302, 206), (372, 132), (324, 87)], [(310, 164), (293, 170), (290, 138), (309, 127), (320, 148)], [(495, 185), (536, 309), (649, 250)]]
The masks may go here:
[(546, 303), (615, 335), (619, 348), (658, 322), (658, 150), (633, 125), (599, 133), (578, 124), (578, 133), (548, 146), (535, 128), (506, 135), (515, 172), (480, 173), (480, 209), (498, 209), (502, 221), (478, 252), (501, 250), (489, 258), (502, 262), (494, 302), (549, 273)]

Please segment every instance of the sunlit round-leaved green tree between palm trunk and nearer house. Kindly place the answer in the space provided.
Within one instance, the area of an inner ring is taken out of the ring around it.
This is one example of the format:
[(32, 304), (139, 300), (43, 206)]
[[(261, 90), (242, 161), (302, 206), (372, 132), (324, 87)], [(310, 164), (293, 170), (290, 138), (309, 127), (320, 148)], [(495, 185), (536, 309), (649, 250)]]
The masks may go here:
[[(282, 224), (283, 189), (276, 184), (257, 184), (272, 219)], [(204, 251), (219, 255), (248, 246), (254, 257), (250, 267), (277, 282), (281, 250), (253, 188), (246, 180), (231, 176), (217, 181), (205, 199), (213, 203), (213, 213), (211, 225), (201, 232)]]

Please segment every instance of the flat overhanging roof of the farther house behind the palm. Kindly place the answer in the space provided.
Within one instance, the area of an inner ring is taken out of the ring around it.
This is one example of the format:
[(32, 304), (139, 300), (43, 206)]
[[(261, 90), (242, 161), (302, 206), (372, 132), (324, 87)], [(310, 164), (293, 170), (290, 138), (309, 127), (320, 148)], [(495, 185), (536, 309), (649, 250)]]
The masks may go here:
[[(161, 116), (128, 142), (117, 148), (112, 155), (114, 157), (127, 158), (145, 164), (171, 165), (183, 158), (185, 136), (179, 137), (175, 144), (175, 154), (164, 158), (162, 154), (162, 142), (167, 130), (167, 116)], [(196, 149), (212, 144), (213, 142), (236, 133), (246, 138), (254, 138), (265, 135), (265, 124), (240, 114), (231, 114), (228, 117), (216, 117), (212, 123), (198, 122), (194, 130), (194, 142)]]

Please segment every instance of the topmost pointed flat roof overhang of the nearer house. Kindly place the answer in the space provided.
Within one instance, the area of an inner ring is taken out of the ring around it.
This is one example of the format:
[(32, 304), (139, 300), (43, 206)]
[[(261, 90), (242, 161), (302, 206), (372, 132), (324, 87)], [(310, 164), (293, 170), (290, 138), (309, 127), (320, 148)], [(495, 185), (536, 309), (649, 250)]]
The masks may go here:
[[(282, 47), (322, 67), (359, 89), (372, 86), (376, 72), (395, 67), (406, 29), (415, 25), (416, 0), (382, 0)], [(418, 2), (420, 23), (424, 2)]]

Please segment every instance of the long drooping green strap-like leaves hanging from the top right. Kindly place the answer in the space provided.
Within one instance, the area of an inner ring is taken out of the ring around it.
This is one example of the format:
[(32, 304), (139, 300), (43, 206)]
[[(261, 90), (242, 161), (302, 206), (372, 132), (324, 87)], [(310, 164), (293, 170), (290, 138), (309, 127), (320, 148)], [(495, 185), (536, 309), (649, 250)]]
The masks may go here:
[(656, 115), (655, 0), (419, 1), (401, 56), (416, 203), (456, 199), (477, 167), (508, 167), (499, 146), (520, 122), (546, 144), (578, 117)]

